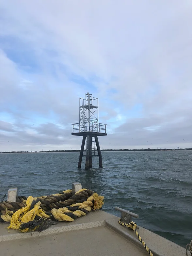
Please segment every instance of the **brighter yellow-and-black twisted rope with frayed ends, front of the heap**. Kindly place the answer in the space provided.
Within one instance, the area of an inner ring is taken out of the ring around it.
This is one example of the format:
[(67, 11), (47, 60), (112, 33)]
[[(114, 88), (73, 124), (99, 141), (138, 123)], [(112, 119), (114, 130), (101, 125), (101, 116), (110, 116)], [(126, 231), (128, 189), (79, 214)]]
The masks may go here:
[[(85, 192), (87, 189), (80, 189), (75, 193), (74, 198), (83, 191)], [(10, 222), (8, 230), (15, 229), (20, 232), (42, 231), (53, 224), (50, 218), (55, 221), (73, 221), (77, 217), (87, 215), (91, 210), (101, 209), (104, 204), (104, 197), (92, 191), (90, 191), (90, 195), (87, 200), (82, 197), (81, 201), (83, 202), (72, 203), (59, 209), (53, 208), (51, 212), (47, 213), (40, 207), (40, 198), (29, 196), (24, 207), (18, 209), (15, 213), (6, 209), (6, 214), (1, 215), (1, 217), (3, 220)], [(64, 202), (68, 204), (68, 201), (74, 202), (74, 199), (65, 200)]]

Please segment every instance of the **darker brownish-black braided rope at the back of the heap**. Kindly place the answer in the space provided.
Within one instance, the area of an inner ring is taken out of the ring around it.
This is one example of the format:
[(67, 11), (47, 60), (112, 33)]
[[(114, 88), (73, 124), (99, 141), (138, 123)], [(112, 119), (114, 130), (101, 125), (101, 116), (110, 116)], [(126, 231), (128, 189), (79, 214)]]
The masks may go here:
[[(90, 197), (93, 192), (89, 189), (81, 189), (74, 196), (72, 196), (72, 190), (68, 189), (63, 191), (62, 193), (53, 194), (51, 196), (41, 196), (37, 197), (41, 204), (40, 207), (45, 210), (46, 212), (52, 209), (59, 209), (63, 206), (69, 206), (76, 202), (84, 202)], [(20, 197), (22, 202), (7, 202), (3, 201), (0, 203), (0, 222), (6, 221), (10, 222), (10, 218), (19, 209), (26, 206), (26, 197)], [(59, 201), (62, 200), (62, 201)]]

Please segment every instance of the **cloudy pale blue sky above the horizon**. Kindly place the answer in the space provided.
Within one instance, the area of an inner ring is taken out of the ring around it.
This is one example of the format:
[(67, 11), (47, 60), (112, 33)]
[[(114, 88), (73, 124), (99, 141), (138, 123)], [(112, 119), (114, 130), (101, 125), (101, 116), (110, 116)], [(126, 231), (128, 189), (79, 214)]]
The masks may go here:
[(192, 148), (191, 0), (0, 0), (0, 152), (80, 149), (79, 97), (101, 149)]

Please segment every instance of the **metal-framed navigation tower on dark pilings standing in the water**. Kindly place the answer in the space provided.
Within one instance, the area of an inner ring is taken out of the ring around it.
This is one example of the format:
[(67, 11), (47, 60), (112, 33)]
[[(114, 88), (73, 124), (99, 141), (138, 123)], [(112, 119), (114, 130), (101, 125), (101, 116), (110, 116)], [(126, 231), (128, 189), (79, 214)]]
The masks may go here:
[[(79, 98), (79, 123), (73, 123), (72, 135), (82, 136), (78, 168), (82, 157), (86, 156), (85, 169), (92, 168), (92, 156), (99, 156), (99, 168), (103, 168), (98, 136), (106, 136), (106, 124), (98, 122), (98, 98), (86, 93), (85, 99)], [(86, 155), (83, 154), (87, 138)]]

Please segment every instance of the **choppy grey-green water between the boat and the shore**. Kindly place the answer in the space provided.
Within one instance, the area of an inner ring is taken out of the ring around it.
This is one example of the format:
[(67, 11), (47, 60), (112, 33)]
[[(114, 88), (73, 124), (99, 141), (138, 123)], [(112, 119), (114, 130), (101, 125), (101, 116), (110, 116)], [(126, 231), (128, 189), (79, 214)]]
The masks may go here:
[(85, 171), (77, 168), (78, 152), (0, 154), (0, 198), (10, 187), (40, 196), (80, 182), (105, 197), (104, 211), (120, 216), (119, 206), (137, 213), (137, 224), (185, 247), (192, 239), (192, 152), (102, 155), (103, 169)]

